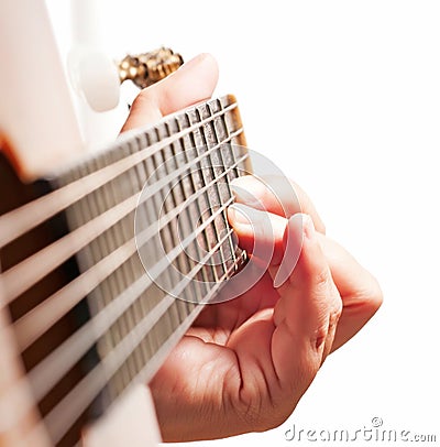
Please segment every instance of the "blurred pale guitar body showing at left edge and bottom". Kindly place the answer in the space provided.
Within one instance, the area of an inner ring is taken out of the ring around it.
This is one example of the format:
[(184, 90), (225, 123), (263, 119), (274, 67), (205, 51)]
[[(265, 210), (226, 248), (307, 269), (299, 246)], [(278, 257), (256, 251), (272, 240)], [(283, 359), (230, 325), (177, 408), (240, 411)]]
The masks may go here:
[[(8, 152), (16, 172), (32, 181), (85, 150), (44, 0), (0, 2), (0, 145), (13, 148)], [(0, 353), (0, 445), (51, 445), (32, 405), (1, 284)], [(153, 402), (143, 385), (133, 386), (84, 436), (85, 446), (158, 441)]]

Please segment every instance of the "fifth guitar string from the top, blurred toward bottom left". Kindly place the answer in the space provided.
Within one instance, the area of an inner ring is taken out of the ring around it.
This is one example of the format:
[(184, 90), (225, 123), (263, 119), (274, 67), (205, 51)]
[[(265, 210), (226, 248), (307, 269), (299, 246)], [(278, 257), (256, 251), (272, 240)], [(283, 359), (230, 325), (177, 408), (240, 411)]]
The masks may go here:
[[(232, 231), (232, 230), (231, 230)], [(223, 240), (220, 240), (216, 247), (212, 248), (210, 253), (207, 257), (212, 255), (212, 253), (218, 249)], [(204, 260), (206, 262), (206, 260)], [(202, 266), (196, 265), (194, 270), (198, 270)], [(168, 296), (179, 295), (183, 287), (189, 283), (195, 273), (191, 273), (191, 277), (185, 276), (180, 283), (170, 292)], [(224, 272), (223, 276), (227, 277), (228, 272)], [(223, 277), (222, 277), (223, 279)], [(221, 283), (218, 283), (220, 287)], [(217, 287), (217, 288), (218, 288)], [(217, 288), (212, 287), (209, 298), (217, 292)], [(102, 386), (106, 384), (103, 379), (102, 369), (107, 371), (112, 371), (113, 373), (118, 371), (120, 366), (127, 359), (123, 355), (123, 351), (131, 351), (138, 346), (139, 342), (145, 337), (150, 330), (150, 325), (145, 325), (144, 320), (134, 327), (131, 332), (125, 336), (125, 338), (101, 362), (96, 366), (85, 378), (78, 382), (73, 390), (61, 401), (57, 405), (44, 417), (46, 422), (47, 429), (50, 430), (52, 438), (57, 443), (64, 434), (69, 428), (72, 421), (76, 421), (77, 417), (85, 411), (85, 408), (90, 404), (94, 397), (101, 391)], [(125, 346), (127, 345), (127, 346)], [(130, 352), (129, 352), (130, 355)]]

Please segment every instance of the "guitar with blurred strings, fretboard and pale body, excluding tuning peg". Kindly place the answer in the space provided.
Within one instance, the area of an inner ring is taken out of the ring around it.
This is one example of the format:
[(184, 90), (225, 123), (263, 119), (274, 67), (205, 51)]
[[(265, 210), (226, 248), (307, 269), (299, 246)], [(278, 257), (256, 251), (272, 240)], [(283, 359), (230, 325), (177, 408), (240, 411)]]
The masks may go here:
[[(36, 3), (21, 25), (53, 63)], [(2, 37), (16, 36), (20, 8), (6, 4)], [(51, 81), (61, 70), (35, 67), (40, 89), (18, 100), (0, 79), (0, 444), (155, 445), (144, 384), (246, 262), (226, 217), (230, 182), (251, 172), (238, 105), (199, 103), (89, 154)], [(29, 117), (15, 113), (23, 101)]]

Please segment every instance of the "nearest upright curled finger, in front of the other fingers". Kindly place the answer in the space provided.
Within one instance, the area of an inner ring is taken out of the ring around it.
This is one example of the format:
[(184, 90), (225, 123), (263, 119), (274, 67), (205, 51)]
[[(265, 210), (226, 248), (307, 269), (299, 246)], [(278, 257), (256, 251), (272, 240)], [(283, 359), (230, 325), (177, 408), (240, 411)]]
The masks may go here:
[(289, 239), (285, 259), (296, 254), (289, 252), (292, 248), (301, 249), (295, 269), (278, 288), (272, 357), (280, 384), (304, 393), (330, 352), (342, 302), (308, 216), (288, 220), (285, 240)]

